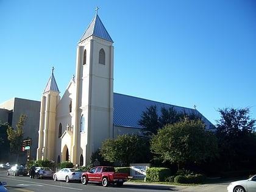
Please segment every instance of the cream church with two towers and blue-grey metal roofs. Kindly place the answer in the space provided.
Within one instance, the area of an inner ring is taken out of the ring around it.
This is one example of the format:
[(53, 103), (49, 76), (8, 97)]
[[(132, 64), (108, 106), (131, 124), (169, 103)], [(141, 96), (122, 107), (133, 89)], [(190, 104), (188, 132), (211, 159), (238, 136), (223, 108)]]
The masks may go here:
[[(177, 112), (196, 112), (148, 99), (113, 92), (113, 40), (98, 13), (77, 46), (76, 74), (63, 96), (54, 77), (54, 68), (41, 97), (37, 160), (90, 163), (91, 154), (102, 141), (124, 133), (141, 133), (138, 121), (147, 107), (174, 107)], [(201, 115), (202, 116), (202, 115)], [(205, 124), (210, 126), (204, 116)]]

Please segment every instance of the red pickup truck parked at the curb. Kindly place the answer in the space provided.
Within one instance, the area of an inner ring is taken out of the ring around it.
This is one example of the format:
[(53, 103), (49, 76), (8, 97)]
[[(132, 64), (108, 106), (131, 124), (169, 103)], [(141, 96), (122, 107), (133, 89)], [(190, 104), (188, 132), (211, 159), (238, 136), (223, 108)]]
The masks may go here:
[(81, 177), (82, 184), (87, 185), (88, 182), (102, 183), (103, 187), (107, 187), (109, 183), (116, 183), (121, 187), (128, 180), (128, 174), (124, 172), (115, 172), (112, 166), (96, 166), (88, 172), (84, 172)]

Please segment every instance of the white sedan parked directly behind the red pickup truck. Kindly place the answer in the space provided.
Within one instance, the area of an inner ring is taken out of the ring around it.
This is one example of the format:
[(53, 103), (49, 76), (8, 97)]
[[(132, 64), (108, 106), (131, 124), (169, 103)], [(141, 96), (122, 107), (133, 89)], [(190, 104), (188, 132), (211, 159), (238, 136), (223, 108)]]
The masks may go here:
[(53, 179), (55, 181), (65, 180), (67, 183), (71, 180), (80, 181), (82, 173), (83, 172), (80, 171), (79, 169), (63, 168), (63, 169), (60, 169), (60, 171), (54, 173)]

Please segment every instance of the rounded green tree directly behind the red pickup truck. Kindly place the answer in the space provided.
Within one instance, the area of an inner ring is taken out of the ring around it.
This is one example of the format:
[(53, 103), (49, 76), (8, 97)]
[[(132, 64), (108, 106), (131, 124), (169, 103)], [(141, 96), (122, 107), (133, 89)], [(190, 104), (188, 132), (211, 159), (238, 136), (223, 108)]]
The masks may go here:
[(108, 162), (120, 161), (123, 166), (129, 163), (146, 163), (149, 160), (149, 143), (138, 135), (119, 135), (102, 143), (100, 154)]

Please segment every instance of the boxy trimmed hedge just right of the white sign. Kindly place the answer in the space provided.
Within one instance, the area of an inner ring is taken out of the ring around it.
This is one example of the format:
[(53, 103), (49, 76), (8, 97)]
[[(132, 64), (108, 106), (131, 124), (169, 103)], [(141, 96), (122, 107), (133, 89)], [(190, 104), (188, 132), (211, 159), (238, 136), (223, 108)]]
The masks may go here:
[(149, 168), (146, 171), (147, 180), (151, 182), (163, 182), (169, 176), (171, 170), (168, 168)]

